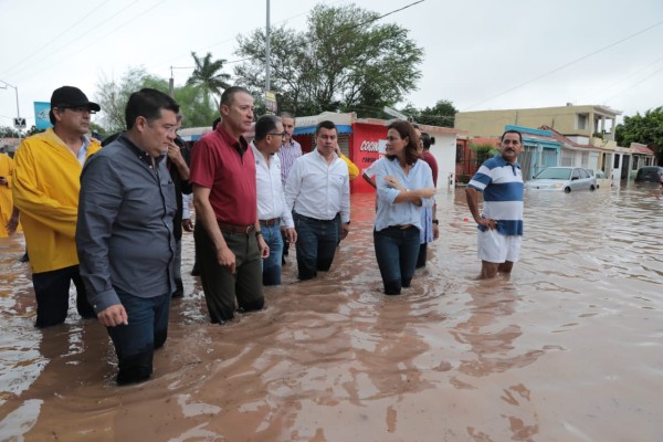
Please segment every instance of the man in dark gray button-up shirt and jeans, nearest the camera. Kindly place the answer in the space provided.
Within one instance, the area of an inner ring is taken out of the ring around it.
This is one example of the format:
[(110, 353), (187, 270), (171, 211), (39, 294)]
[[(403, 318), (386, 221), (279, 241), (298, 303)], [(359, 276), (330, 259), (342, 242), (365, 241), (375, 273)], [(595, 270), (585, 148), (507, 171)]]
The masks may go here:
[(177, 203), (166, 154), (178, 112), (159, 91), (131, 94), (127, 130), (95, 154), (81, 175), (81, 276), (115, 345), (118, 385), (150, 377), (154, 350), (168, 334)]

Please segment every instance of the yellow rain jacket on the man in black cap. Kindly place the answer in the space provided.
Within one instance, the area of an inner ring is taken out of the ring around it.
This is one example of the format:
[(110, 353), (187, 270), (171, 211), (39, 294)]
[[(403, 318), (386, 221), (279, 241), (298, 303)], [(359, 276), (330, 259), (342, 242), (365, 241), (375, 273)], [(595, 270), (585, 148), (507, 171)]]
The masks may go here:
[[(86, 158), (101, 147), (92, 140)], [(78, 264), (75, 233), (82, 169), (52, 128), (25, 138), (14, 155), (13, 200), (21, 211), (33, 273)]]

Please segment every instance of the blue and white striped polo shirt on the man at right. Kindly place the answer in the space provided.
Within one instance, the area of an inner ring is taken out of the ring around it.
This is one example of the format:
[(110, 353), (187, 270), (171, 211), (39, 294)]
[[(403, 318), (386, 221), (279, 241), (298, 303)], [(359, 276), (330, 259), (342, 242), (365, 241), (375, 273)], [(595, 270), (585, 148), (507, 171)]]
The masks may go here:
[[(520, 165), (511, 164), (502, 156), (486, 160), (470, 187), (483, 192), (483, 218), (497, 221), (497, 232), (505, 235), (523, 234), (523, 194), (525, 185)], [(485, 230), (478, 225), (480, 230)]]

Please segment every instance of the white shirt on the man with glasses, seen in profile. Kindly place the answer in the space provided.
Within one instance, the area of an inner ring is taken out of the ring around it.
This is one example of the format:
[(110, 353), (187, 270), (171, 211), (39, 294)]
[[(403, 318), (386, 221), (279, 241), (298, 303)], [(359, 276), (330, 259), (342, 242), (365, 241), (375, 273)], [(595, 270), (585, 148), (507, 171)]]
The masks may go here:
[(257, 218), (271, 220), (281, 218), (286, 228), (294, 228), (293, 215), (287, 209), (281, 183), (281, 161), (278, 155), (272, 155), (270, 164), (263, 154), (251, 143), (255, 157), (255, 181), (257, 187)]

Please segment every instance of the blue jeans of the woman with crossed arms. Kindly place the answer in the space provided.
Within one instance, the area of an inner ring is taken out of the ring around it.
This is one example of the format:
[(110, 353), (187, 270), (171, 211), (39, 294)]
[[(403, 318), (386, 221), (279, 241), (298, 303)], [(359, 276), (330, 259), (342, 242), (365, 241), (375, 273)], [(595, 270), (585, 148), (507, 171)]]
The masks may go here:
[(419, 255), (419, 229), (387, 228), (373, 231), (376, 257), (385, 285), (385, 294), (400, 295), (409, 287)]

